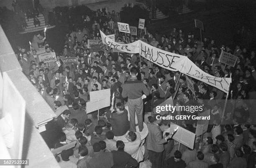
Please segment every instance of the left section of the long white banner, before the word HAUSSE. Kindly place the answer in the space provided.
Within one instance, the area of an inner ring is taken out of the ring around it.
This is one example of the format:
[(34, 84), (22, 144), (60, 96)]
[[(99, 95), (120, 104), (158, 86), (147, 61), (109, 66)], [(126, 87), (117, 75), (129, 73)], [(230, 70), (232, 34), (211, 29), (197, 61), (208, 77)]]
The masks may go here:
[(115, 48), (125, 53), (139, 53), (139, 49), (140, 49), (139, 41), (135, 41), (130, 44), (119, 44), (109, 39), (104, 33), (102, 33), (102, 31), (100, 31), (100, 34), (102, 38), (102, 43), (111, 48)]

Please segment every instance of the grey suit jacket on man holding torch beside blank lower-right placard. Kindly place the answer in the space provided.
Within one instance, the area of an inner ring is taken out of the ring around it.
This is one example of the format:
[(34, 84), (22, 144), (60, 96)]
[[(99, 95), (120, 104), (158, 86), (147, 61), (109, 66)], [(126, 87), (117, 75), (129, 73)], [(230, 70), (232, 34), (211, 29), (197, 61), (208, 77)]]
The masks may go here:
[(146, 138), (146, 149), (154, 152), (162, 152), (166, 140), (162, 137), (162, 131), (159, 125), (148, 123), (148, 137)]

